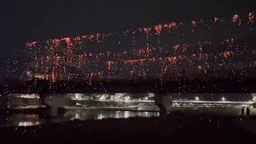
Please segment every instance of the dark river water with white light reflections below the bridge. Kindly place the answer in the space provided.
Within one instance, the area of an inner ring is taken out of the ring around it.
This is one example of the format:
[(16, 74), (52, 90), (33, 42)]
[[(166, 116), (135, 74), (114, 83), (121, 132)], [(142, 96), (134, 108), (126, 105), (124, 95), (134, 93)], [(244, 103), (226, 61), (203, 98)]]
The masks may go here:
[(6, 118), (6, 122), (0, 121), (0, 126), (38, 126), (43, 123), (51, 122), (69, 122), (74, 120), (101, 120), (104, 118), (131, 118), (131, 117), (157, 117), (158, 112), (141, 112), (141, 111), (83, 111), (73, 110), (66, 111), (58, 118), (52, 120), (46, 120), (38, 114), (14, 114)]

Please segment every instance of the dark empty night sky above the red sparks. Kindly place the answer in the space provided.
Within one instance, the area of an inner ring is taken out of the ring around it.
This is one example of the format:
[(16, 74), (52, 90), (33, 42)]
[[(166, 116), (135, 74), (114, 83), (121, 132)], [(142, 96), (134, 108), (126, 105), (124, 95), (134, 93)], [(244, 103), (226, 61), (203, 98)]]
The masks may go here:
[(59, 38), (225, 16), (255, 10), (255, 0), (2, 0), (0, 58), (33, 39)]

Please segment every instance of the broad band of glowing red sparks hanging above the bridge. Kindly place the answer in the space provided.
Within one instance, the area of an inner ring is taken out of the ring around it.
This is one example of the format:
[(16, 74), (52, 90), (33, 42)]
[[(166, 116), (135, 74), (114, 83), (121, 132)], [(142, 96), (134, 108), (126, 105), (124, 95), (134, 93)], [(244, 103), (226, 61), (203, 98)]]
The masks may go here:
[[(58, 80), (243, 78), (256, 67), (254, 13), (26, 43), (34, 77)], [(245, 64), (246, 63), (246, 64)]]

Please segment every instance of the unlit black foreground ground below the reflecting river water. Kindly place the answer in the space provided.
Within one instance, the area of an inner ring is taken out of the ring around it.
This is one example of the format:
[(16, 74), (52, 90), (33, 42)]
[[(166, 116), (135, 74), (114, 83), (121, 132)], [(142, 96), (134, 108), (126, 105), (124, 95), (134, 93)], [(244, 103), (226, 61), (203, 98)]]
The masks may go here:
[(256, 118), (170, 115), (5, 127), (1, 143), (255, 143)]

